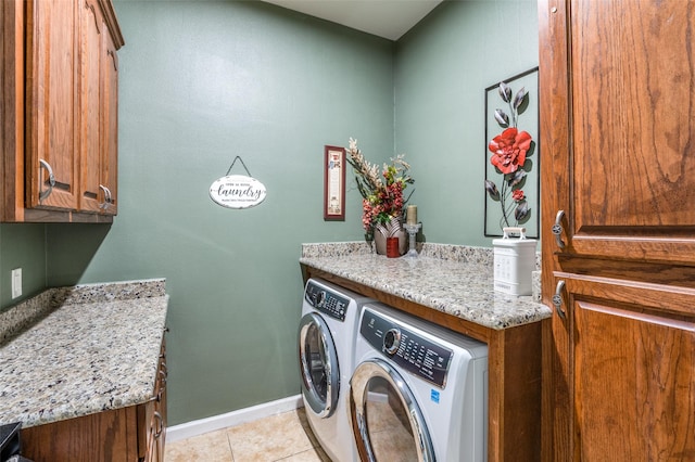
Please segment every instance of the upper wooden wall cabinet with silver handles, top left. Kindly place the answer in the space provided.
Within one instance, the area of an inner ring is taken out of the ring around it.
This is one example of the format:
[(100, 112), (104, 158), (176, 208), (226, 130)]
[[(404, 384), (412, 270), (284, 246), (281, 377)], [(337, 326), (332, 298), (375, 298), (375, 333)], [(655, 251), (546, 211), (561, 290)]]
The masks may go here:
[[(116, 51), (109, 0), (5, 1), (3, 221), (110, 221), (117, 194)], [(26, 69), (26, 70), (24, 70)], [(20, 174), (21, 172), (21, 174)]]

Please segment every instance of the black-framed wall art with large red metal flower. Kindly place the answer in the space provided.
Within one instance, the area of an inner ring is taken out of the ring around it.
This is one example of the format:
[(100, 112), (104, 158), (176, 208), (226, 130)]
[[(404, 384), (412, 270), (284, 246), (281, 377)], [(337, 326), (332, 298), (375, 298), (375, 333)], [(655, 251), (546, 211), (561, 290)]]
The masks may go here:
[(540, 227), (539, 68), (485, 88), (484, 235)]

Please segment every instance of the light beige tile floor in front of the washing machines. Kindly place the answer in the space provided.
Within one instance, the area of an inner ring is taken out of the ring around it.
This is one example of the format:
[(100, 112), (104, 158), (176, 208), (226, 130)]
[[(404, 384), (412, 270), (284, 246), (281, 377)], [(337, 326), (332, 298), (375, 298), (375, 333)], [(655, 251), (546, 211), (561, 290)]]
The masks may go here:
[(165, 462), (330, 462), (304, 409), (166, 442)]

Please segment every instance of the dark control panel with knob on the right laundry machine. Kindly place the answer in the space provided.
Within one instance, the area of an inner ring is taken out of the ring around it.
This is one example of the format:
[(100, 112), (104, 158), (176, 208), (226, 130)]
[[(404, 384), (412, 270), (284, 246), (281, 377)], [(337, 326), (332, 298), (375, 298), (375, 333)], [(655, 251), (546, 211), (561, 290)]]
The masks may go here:
[(454, 357), (452, 349), (369, 309), (362, 317), (359, 333), (403, 370), (440, 388), (446, 386), (446, 374)]

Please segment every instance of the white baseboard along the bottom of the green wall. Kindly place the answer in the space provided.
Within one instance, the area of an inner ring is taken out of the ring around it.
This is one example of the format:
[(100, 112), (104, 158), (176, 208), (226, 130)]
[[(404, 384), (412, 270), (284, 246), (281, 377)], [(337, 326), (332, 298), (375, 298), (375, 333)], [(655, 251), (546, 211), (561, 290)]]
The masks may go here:
[(276, 401), (264, 402), (263, 405), (227, 412), (226, 414), (213, 415), (211, 418), (169, 426), (166, 428), (166, 440), (176, 441), (179, 439), (190, 438), (191, 436), (198, 436), (216, 429), (226, 428), (228, 426), (239, 425), (256, 419), (268, 418), (270, 415), (292, 411), (302, 407), (304, 407), (302, 395), (289, 396)]

